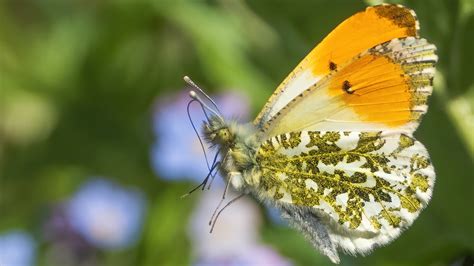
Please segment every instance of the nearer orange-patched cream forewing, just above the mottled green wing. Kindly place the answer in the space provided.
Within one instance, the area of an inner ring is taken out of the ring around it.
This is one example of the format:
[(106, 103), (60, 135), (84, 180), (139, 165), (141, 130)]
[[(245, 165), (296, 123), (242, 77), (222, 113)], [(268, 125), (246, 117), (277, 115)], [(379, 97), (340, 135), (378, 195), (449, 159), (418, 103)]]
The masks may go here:
[(432, 92), (435, 46), (393, 39), (355, 56), (268, 121), (267, 136), (301, 130), (413, 132)]

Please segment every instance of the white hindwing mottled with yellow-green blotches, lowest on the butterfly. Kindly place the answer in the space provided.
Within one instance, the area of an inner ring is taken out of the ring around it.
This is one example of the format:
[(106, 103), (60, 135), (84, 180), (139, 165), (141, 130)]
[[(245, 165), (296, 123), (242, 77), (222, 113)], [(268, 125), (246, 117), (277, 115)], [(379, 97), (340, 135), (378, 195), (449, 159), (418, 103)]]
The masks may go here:
[(312, 207), (351, 253), (398, 236), (427, 205), (435, 179), (423, 145), (394, 132), (291, 132), (265, 141), (256, 160), (263, 197)]

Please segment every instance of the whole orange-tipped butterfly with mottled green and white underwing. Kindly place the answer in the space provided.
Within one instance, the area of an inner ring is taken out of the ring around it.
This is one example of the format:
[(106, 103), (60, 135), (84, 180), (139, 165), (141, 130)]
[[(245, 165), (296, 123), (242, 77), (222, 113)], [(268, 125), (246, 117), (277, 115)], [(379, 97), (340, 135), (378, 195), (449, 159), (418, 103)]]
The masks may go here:
[(435, 181), (413, 137), (437, 62), (436, 47), (418, 32), (414, 11), (401, 5), (354, 14), (296, 66), (253, 123), (224, 119), (212, 99), (191, 91), (211, 112), (203, 134), (220, 157), (210, 172), (275, 206), (334, 263), (338, 249), (364, 255), (393, 241), (427, 206)]

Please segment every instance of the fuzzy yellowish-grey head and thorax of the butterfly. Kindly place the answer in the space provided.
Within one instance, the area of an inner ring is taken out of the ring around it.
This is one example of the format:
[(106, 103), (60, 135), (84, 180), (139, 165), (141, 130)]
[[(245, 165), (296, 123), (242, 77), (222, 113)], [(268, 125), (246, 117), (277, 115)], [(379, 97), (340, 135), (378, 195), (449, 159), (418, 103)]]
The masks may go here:
[(259, 171), (255, 155), (259, 134), (253, 124), (240, 124), (211, 116), (204, 123), (204, 136), (221, 155), (220, 171), (232, 186), (242, 192), (258, 185)]

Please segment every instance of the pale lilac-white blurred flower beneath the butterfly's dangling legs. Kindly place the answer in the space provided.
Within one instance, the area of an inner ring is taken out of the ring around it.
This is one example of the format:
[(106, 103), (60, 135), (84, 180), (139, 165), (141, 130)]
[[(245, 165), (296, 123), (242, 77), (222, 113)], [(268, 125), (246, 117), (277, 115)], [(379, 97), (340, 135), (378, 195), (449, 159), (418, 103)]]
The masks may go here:
[[(203, 194), (191, 217), (189, 235), (195, 265), (291, 265), (276, 251), (260, 243), (261, 214), (249, 198), (242, 198), (222, 212), (212, 234), (208, 221), (221, 198), (219, 190)], [(227, 195), (228, 199), (234, 193)]]

